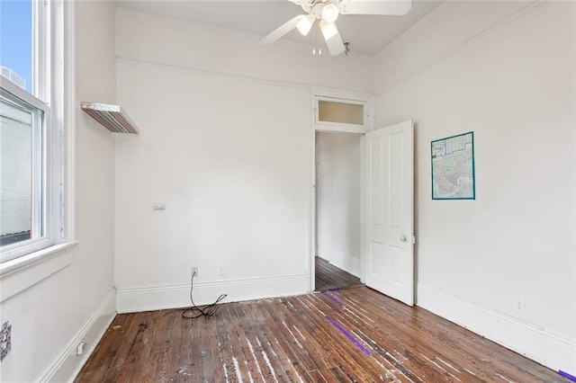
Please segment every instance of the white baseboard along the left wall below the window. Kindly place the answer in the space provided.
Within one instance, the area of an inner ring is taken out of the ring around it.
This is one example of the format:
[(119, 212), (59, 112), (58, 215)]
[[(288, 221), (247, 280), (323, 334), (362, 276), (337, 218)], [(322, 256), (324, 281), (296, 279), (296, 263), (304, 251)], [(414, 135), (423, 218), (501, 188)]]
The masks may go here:
[[(116, 293), (112, 289), (98, 305), (94, 314), (88, 318), (85, 325), (80, 328), (74, 338), (67, 344), (63, 352), (58, 355), (49, 368), (35, 381), (40, 382), (71, 382), (84, 366), (90, 354), (94, 352), (96, 344), (100, 342), (112, 319), (116, 316)], [(76, 355), (78, 343), (85, 342), (85, 351)]]

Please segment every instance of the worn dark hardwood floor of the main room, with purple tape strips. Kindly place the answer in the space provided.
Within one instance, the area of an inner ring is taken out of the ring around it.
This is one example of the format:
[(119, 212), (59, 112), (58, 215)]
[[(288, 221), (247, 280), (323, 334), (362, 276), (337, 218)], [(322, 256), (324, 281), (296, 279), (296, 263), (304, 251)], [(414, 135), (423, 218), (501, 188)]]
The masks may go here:
[(76, 382), (563, 382), (419, 307), (358, 287), (116, 316)]

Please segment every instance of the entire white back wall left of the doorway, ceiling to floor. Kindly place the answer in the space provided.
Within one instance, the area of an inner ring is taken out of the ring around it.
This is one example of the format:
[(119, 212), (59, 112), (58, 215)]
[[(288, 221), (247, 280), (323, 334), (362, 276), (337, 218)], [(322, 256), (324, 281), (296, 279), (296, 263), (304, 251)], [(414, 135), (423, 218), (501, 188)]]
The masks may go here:
[[(189, 305), (192, 266), (197, 303), (308, 291), (308, 85), (370, 88), (370, 58), (323, 69), (326, 58), (298, 44), (117, 17), (118, 101), (140, 129), (116, 147), (118, 309)], [(364, 73), (333, 78), (357, 66)]]

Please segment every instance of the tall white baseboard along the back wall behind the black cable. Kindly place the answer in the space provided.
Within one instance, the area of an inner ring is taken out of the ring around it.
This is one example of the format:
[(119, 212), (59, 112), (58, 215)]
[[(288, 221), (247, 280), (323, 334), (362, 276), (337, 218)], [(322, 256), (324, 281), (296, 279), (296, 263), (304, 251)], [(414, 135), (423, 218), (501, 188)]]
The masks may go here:
[[(227, 294), (222, 300), (222, 303), (225, 303), (285, 297), (303, 294), (309, 290), (308, 274), (235, 281), (202, 282), (194, 279), (193, 299), (196, 305), (201, 306), (213, 303), (220, 294)], [(190, 284), (117, 288), (116, 291), (116, 307), (119, 313), (189, 307), (191, 303)]]

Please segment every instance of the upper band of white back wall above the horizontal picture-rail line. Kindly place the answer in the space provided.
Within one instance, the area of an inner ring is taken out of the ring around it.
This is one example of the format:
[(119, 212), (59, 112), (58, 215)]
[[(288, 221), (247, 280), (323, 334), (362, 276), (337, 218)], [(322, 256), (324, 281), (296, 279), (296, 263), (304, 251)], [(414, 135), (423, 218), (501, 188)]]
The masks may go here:
[(119, 58), (171, 67), (372, 92), (370, 56), (312, 56), (311, 46), (278, 40), (258, 45), (257, 36), (118, 8)]

